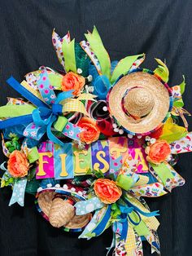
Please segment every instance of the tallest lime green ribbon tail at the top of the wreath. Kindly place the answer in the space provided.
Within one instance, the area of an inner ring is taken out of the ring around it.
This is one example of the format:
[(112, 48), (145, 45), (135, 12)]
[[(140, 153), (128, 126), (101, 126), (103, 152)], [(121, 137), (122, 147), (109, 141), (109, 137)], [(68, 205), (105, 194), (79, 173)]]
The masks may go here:
[(94, 26), (93, 33), (85, 33), (85, 38), (90, 44), (91, 50), (97, 56), (99, 64), (102, 69), (102, 74), (110, 79), (111, 77), (111, 61), (109, 55), (103, 46), (102, 39), (98, 34), (98, 30)]

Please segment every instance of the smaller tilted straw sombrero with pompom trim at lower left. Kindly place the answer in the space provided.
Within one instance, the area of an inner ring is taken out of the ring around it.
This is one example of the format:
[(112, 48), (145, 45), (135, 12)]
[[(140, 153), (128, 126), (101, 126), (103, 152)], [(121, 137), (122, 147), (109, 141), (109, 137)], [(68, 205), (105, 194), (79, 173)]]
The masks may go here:
[(85, 201), (85, 197), (75, 186), (63, 187), (57, 184), (56, 187), (38, 189), (37, 210), (53, 227), (63, 227), (68, 232), (81, 232), (92, 214), (76, 215), (74, 205), (77, 201)]

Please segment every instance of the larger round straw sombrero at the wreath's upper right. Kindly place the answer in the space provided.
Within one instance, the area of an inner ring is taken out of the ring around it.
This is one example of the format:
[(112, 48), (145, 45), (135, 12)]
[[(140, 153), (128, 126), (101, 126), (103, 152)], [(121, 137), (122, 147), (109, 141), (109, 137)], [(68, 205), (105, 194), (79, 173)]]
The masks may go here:
[(111, 116), (133, 135), (146, 135), (161, 126), (172, 109), (172, 93), (149, 70), (135, 70), (120, 78), (108, 96)]

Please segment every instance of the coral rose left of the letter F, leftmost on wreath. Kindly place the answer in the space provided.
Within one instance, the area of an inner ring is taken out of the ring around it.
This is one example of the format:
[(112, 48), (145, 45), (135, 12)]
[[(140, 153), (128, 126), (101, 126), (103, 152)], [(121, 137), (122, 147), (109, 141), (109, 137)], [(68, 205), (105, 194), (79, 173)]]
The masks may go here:
[(24, 177), (28, 174), (29, 163), (23, 152), (15, 150), (11, 152), (7, 162), (7, 170), (15, 178)]

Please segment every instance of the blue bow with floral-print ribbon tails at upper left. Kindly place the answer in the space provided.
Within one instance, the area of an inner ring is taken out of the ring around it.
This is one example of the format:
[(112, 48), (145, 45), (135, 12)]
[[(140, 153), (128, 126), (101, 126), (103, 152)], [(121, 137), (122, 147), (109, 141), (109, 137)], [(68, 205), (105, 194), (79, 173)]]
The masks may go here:
[[(55, 121), (59, 120), (59, 131), (71, 139), (79, 140), (79, 133), (81, 128), (74, 126), (68, 121), (66, 117), (61, 114), (63, 112), (62, 104), (59, 104), (64, 99), (69, 99), (72, 97), (72, 90), (60, 93), (57, 97), (50, 86), (48, 73), (46, 70), (42, 70), (39, 80), (37, 81), (38, 90), (41, 93), (42, 98), (45, 100), (43, 102), (37, 96), (33, 95), (29, 90), (24, 88), (19, 82), (15, 80), (14, 77), (10, 77), (7, 83), (16, 91), (18, 91), (24, 98), (28, 99), (32, 104), (36, 105), (37, 108), (33, 110), (32, 114), (12, 117), (7, 120), (0, 122), (0, 129), (5, 129), (11, 126), (18, 126), (20, 124), (27, 124), (28, 126), (24, 129), (23, 135), (30, 139), (39, 140), (46, 133), (47, 137), (54, 143), (58, 143), (63, 146), (61, 142), (52, 133), (52, 125)], [(58, 129), (57, 129), (58, 130)]]

